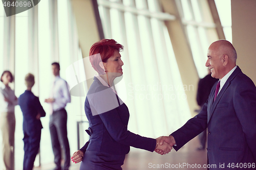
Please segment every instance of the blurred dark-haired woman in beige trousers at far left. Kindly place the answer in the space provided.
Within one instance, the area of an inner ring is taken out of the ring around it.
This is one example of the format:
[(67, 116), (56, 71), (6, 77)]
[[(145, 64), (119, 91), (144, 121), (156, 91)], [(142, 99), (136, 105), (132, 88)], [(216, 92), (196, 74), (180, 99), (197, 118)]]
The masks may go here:
[(14, 132), (15, 132), (15, 114), (14, 107), (18, 104), (14, 91), (9, 87), (13, 82), (13, 76), (6, 70), (1, 76), (0, 86), (0, 128), (3, 137), (3, 169), (14, 169)]

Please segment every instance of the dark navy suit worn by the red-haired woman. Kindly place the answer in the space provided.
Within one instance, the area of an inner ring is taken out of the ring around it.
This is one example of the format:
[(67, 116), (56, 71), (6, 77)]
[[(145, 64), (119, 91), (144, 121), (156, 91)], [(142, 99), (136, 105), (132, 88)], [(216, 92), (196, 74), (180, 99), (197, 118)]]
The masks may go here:
[[(130, 146), (153, 152), (156, 139), (127, 130), (129, 110), (109, 87), (94, 77), (84, 110), (89, 120), (90, 140), (80, 150), (84, 154), (80, 169), (121, 169)], [(89, 145), (88, 145), (89, 144)]]

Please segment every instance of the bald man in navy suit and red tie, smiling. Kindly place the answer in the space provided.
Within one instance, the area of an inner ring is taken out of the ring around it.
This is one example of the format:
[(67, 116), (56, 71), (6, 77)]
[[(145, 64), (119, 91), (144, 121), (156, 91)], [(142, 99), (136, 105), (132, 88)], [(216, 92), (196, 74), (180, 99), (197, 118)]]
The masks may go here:
[[(198, 115), (163, 141), (178, 151), (208, 128), (209, 169), (255, 169), (256, 87), (236, 65), (237, 53), (226, 40), (208, 48), (205, 66), (219, 79)], [(161, 151), (159, 151), (161, 153)]]

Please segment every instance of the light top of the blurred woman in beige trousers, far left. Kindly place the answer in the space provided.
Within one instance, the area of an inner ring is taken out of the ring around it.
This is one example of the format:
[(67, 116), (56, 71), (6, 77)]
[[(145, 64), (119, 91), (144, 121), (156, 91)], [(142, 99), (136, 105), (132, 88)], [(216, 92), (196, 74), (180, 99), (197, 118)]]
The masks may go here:
[[(9, 102), (5, 101), (5, 98), (9, 100)], [(16, 96), (14, 91), (10, 87), (6, 87), (4, 83), (0, 84), (0, 112), (14, 112), (14, 107), (18, 105), (18, 100), (16, 100)]]

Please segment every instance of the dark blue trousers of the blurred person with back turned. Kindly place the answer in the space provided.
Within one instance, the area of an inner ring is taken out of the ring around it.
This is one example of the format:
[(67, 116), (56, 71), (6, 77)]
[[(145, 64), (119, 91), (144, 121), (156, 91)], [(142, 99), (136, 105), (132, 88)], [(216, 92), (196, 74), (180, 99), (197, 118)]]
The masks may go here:
[(40, 146), (41, 129), (34, 129), (33, 131), (24, 131), (24, 160), (23, 170), (32, 170), (34, 166), (35, 157)]

